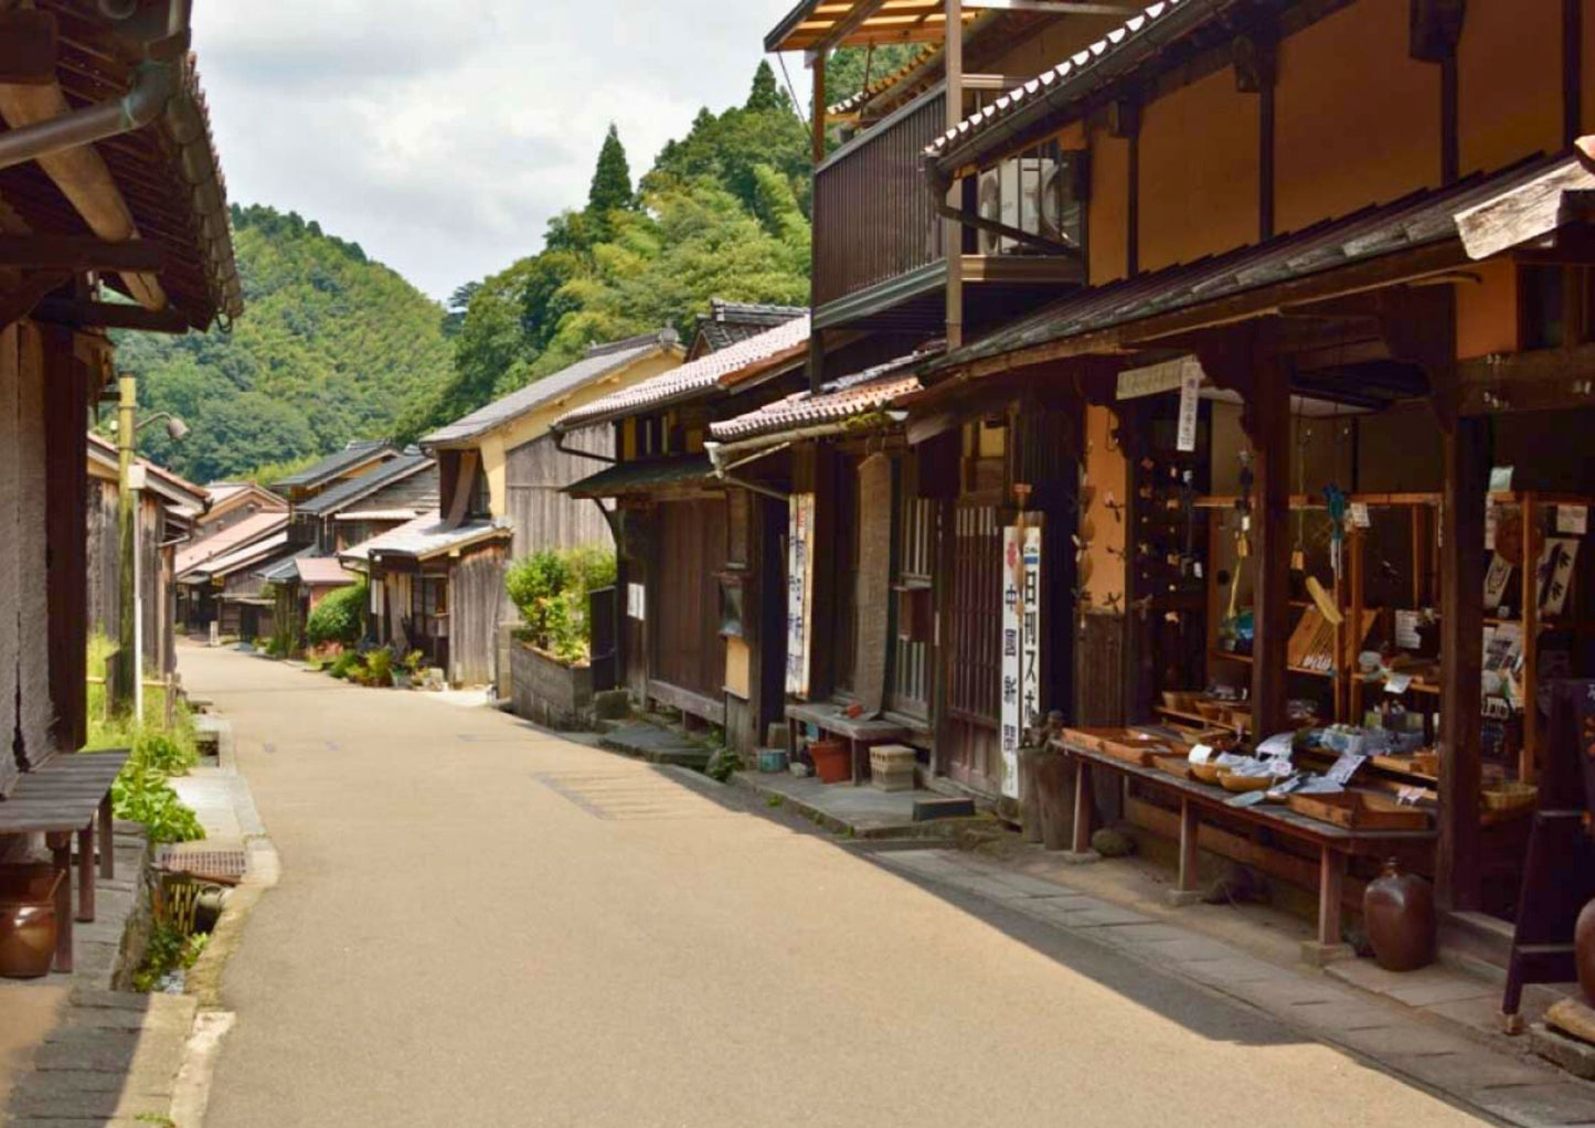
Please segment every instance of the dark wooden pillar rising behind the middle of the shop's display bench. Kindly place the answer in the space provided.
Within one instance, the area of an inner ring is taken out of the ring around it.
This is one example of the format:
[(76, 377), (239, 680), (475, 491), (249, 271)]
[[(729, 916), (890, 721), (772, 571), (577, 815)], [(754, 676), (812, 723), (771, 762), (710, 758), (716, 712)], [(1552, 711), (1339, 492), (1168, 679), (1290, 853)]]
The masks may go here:
[(1290, 632), (1290, 383), (1284, 365), (1252, 356), (1246, 405), (1255, 474), (1252, 506), (1252, 731), (1286, 728), (1286, 645)]

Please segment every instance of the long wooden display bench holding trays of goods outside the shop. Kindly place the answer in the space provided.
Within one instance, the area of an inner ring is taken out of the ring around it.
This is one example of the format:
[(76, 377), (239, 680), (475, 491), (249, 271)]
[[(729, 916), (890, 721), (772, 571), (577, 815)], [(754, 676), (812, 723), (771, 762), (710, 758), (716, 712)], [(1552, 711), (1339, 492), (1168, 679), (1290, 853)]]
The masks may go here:
[(1109, 756), (1078, 739), (1062, 737), (1053, 747), (1075, 761), (1073, 839), (1070, 855), (1077, 860), (1094, 857), (1091, 850), (1091, 772), (1107, 769), (1140, 780), (1171, 793), (1180, 801), (1179, 881), (1169, 893), (1169, 903), (1190, 905), (1199, 900), (1196, 889), (1196, 842), (1204, 811), (1265, 826), (1274, 834), (1308, 842), (1317, 849), (1317, 938), (1302, 946), (1303, 956), (1314, 964), (1324, 964), (1341, 951), (1341, 885), (1346, 863), (1353, 857), (1388, 857), (1392, 847), (1413, 842), (1432, 842), (1434, 830), (1349, 830), (1333, 823), (1308, 818), (1278, 804), (1231, 807), (1233, 793), (1214, 783), (1185, 780), (1179, 775), (1142, 767), (1126, 759)]

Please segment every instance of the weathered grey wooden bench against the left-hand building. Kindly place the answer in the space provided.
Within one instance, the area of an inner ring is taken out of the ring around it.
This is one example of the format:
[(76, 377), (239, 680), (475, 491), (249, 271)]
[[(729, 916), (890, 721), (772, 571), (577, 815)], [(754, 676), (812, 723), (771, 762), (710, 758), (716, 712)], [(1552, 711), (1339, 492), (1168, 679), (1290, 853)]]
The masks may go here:
[[(24, 774), (10, 798), (0, 799), (0, 834), (43, 834), (51, 862), (65, 873), (56, 889), (54, 970), (72, 970), (72, 922), (94, 919), (94, 857), (99, 833), (99, 876), (116, 876), (112, 841), (110, 785), (128, 763), (128, 750), (56, 756)], [(72, 839), (78, 839), (78, 905), (72, 909)]]

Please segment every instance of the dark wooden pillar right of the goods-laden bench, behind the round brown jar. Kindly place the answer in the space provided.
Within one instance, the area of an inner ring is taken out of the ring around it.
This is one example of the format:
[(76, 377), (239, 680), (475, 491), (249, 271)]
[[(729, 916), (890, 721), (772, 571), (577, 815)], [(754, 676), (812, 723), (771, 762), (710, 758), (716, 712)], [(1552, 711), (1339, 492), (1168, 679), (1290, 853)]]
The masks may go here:
[(1479, 908), (1479, 702), (1483, 664), (1487, 424), (1442, 429), (1440, 511), (1440, 905)]

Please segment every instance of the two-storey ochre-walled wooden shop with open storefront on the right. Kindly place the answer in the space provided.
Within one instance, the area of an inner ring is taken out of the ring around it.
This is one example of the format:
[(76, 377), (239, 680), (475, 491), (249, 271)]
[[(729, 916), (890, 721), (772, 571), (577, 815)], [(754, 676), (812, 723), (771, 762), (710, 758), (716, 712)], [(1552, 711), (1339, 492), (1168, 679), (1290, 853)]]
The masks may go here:
[[(1504, 959), (1550, 747), (1544, 691), (1595, 673), (1595, 464), (1577, 437), (1595, 423), (1592, 6), (1171, 0), (1109, 35), (1062, 16), (975, 64), (1026, 80), (978, 108), (967, 48), (989, 16), (957, 0), (804, 3), (772, 35), (812, 53), (823, 93), (831, 46), (916, 14), (933, 41), (963, 29), (933, 53), (944, 104), (924, 144), (892, 163), (911, 115), (849, 107), (861, 132), (815, 188), (815, 324), (884, 310), (850, 324), (939, 319), (949, 343), (896, 400), (920, 471), (959, 479), (941, 487), (952, 533), (928, 581), (938, 772), (984, 791), (1008, 779), (960, 751), (1008, 692), (1000, 627), (960, 592), (995, 598), (1014, 546), (1000, 530), (1040, 523), (1037, 708), (1199, 731), (1201, 697), (1258, 736), (1410, 716), (1421, 758), (1373, 764), (1367, 783), (1434, 804), (1437, 841), (1408, 860), (1451, 909), (1447, 937)], [(833, 198), (826, 182), (876, 148), (876, 198)], [(890, 305), (930, 268), (872, 257), (890, 239), (849, 238), (860, 214), (906, 247), (965, 254), (943, 257), (935, 297)], [(1046, 303), (1026, 313), (990, 302), (971, 243), (1073, 273), (1027, 289)], [(1191, 844), (1195, 818), (1204, 846), (1316, 887), (1333, 952), (1367, 862), (1107, 783), (1099, 815)]]

